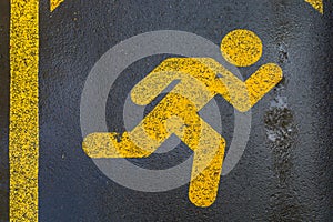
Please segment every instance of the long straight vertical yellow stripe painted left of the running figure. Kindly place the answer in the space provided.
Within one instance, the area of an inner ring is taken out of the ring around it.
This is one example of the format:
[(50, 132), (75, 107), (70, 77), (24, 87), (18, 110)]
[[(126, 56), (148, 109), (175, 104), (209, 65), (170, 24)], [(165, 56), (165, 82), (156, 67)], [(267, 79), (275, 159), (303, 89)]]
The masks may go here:
[(38, 0), (11, 0), (10, 221), (38, 221)]

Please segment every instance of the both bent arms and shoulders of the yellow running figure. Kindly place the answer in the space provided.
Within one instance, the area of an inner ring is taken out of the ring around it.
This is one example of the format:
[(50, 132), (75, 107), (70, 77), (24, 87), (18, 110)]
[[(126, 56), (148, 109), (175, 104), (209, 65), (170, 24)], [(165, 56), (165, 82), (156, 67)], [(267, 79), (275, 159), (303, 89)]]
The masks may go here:
[[(249, 111), (282, 80), (278, 64), (260, 67), (245, 82), (211, 58), (171, 58), (140, 81), (131, 98), (137, 104), (149, 104), (174, 80), (195, 78), (211, 95), (220, 94), (240, 112)], [(203, 90), (203, 89), (201, 89)]]

